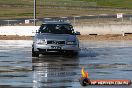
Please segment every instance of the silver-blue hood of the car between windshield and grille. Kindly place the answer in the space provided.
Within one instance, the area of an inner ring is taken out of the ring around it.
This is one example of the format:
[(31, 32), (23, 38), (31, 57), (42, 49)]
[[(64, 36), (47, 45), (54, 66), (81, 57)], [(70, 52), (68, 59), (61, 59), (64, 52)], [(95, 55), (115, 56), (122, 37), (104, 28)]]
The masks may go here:
[(69, 34), (37, 34), (38, 39), (46, 39), (46, 40), (66, 40), (66, 41), (75, 41), (75, 35)]

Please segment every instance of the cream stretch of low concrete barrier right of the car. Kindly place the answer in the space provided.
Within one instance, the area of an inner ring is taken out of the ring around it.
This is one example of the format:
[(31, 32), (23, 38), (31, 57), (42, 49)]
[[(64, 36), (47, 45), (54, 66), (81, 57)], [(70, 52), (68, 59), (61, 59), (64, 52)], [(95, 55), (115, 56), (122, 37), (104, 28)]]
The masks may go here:
[(79, 31), (82, 35), (89, 34), (124, 34), (124, 33), (132, 33), (132, 25), (87, 25), (87, 26), (76, 26), (76, 31)]

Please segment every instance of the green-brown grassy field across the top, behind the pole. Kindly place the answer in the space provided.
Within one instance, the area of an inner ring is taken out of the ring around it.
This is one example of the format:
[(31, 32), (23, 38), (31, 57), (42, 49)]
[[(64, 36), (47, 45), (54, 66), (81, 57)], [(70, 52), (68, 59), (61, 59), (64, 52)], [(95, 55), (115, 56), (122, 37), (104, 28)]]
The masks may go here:
[[(33, 1), (0, 0), (0, 19), (33, 18)], [(132, 0), (36, 0), (36, 3), (37, 18), (88, 14), (132, 14)]]

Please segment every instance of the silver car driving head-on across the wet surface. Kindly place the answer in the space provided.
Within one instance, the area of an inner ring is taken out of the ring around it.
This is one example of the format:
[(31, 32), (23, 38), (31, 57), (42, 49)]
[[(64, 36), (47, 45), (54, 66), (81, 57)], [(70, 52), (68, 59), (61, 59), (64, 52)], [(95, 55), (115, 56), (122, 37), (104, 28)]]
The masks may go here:
[(36, 32), (33, 38), (32, 56), (39, 54), (59, 52), (64, 55), (77, 55), (79, 41), (74, 32), (73, 26), (66, 22), (45, 22)]

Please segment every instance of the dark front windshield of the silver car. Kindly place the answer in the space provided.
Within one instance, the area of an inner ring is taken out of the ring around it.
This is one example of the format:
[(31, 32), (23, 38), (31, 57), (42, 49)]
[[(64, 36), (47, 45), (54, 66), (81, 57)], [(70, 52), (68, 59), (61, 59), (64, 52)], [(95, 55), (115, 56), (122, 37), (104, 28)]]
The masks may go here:
[(70, 24), (42, 24), (39, 33), (74, 34)]

